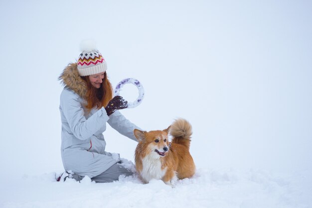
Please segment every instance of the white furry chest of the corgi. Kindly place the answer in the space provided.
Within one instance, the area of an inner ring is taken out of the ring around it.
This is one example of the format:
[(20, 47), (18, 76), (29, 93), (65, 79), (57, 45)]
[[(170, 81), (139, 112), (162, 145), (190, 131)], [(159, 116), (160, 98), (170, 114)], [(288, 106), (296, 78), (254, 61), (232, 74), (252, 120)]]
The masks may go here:
[(161, 162), (159, 159), (155, 159), (151, 156), (146, 156), (142, 160), (143, 170), (141, 172), (142, 179), (149, 183), (152, 179), (162, 179), (166, 173), (166, 168), (161, 169)]

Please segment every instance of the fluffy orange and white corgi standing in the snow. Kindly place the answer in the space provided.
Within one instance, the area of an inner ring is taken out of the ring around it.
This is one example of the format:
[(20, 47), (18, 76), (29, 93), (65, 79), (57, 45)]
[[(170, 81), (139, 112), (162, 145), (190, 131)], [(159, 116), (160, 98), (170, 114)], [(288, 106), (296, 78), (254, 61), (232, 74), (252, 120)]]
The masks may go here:
[[(135, 151), (136, 169), (141, 180), (149, 183), (161, 179), (174, 187), (177, 179), (190, 178), (195, 173), (195, 164), (189, 153), (192, 127), (185, 119), (175, 120), (165, 130), (134, 130), (139, 141)], [(168, 141), (168, 134), (172, 141)]]

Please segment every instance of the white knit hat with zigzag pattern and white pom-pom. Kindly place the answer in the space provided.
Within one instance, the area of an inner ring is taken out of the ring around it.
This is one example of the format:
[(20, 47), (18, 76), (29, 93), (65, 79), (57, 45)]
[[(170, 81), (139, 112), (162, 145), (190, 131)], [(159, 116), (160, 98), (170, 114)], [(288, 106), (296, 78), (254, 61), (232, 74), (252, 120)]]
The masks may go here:
[(86, 40), (80, 44), (82, 52), (79, 55), (77, 68), (80, 76), (98, 74), (107, 70), (106, 61), (101, 53), (95, 49), (95, 43)]

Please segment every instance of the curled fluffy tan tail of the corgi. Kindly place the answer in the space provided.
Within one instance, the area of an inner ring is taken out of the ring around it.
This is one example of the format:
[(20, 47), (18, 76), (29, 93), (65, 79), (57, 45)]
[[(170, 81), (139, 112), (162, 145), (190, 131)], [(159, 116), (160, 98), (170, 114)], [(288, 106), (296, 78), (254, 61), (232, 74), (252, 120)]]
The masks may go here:
[(182, 118), (176, 119), (171, 124), (170, 134), (172, 135), (172, 143), (184, 145), (189, 149), (192, 126), (188, 121)]

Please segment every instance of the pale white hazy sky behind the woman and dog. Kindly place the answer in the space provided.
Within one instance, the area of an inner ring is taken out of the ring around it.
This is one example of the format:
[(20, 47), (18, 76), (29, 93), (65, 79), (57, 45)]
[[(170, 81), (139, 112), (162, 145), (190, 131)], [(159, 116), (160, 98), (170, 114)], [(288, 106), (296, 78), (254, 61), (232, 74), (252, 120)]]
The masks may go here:
[[(113, 86), (143, 83), (129, 120), (148, 131), (191, 122), (198, 168), (311, 167), (311, 10), (308, 0), (1, 0), (1, 169), (62, 170), (57, 77), (86, 38)], [(135, 142), (104, 136), (133, 161)]]

